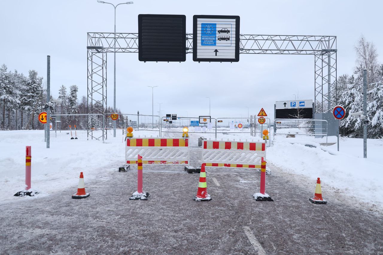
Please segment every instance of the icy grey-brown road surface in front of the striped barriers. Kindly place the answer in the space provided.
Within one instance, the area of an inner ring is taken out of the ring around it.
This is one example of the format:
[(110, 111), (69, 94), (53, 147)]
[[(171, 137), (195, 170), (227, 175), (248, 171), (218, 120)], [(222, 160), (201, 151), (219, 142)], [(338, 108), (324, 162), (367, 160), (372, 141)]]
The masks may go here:
[[(200, 150), (191, 155), (196, 160)], [(84, 172), (87, 199), (71, 198), (73, 183), (50, 196), (0, 205), (0, 253), (383, 253), (381, 214), (352, 206), (326, 185), (328, 204), (311, 204), (315, 182), (271, 164), (266, 192), (274, 202), (251, 197), (259, 192), (259, 172), (233, 168), (207, 168), (213, 200), (195, 202), (199, 175), (180, 165), (144, 165), (151, 197), (129, 201), (137, 168), (119, 173), (118, 166), (93, 171), (96, 178), (88, 181)]]

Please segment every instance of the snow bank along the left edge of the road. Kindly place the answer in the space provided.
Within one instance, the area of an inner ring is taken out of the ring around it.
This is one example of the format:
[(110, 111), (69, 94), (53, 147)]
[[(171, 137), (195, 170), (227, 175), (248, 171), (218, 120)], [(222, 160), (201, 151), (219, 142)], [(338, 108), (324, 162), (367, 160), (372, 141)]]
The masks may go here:
[(124, 162), (124, 144), (103, 144), (102, 141), (73, 139), (52, 141), (46, 149), (44, 131), (0, 131), (0, 203), (30, 199), (13, 195), (24, 189), (25, 146), (31, 145), (31, 186), (41, 197), (54, 191), (73, 187), (77, 190), (80, 172), (87, 180), (102, 178), (111, 168)]

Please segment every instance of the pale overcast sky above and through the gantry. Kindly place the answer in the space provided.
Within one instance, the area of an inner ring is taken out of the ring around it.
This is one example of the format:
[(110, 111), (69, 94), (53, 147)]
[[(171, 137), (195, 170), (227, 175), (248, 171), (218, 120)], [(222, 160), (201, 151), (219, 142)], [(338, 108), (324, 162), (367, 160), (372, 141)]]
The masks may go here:
[[(123, 1), (110, 0), (112, 3)], [(134, 0), (119, 5), (116, 30), (137, 33), (138, 14), (182, 14), (192, 33), (193, 15), (239, 15), (241, 34), (337, 36), (337, 74), (351, 74), (354, 45), (363, 34), (373, 41), (383, 62), (381, 15), (376, 1), (224, 1)], [(87, 94), (87, 32), (113, 32), (113, 7), (96, 0), (0, 0), (0, 64), (28, 75), (35, 69), (46, 77), (51, 56), (51, 93), (76, 84), (79, 99)], [(314, 57), (241, 54), (236, 63), (140, 62), (137, 53), (117, 54), (117, 107), (123, 113), (154, 111), (198, 116), (247, 117), (264, 107), (273, 115), (280, 100), (314, 99)], [(108, 54), (108, 105), (113, 106), (113, 54)], [(187, 113), (188, 112), (188, 113)]]

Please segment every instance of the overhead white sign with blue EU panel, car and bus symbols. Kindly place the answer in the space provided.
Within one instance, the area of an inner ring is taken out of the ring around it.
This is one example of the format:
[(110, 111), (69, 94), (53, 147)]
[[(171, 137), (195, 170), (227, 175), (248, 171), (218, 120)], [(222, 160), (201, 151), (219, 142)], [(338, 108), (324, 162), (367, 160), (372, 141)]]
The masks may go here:
[(193, 61), (239, 61), (239, 16), (193, 16)]

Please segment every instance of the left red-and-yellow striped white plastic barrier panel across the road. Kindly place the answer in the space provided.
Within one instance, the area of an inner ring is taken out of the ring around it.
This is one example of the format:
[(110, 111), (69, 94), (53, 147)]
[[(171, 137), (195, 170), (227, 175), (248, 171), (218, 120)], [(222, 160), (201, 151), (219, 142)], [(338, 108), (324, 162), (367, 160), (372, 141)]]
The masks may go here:
[(126, 139), (127, 164), (137, 164), (137, 155), (143, 164), (189, 164), (189, 140), (183, 138)]

